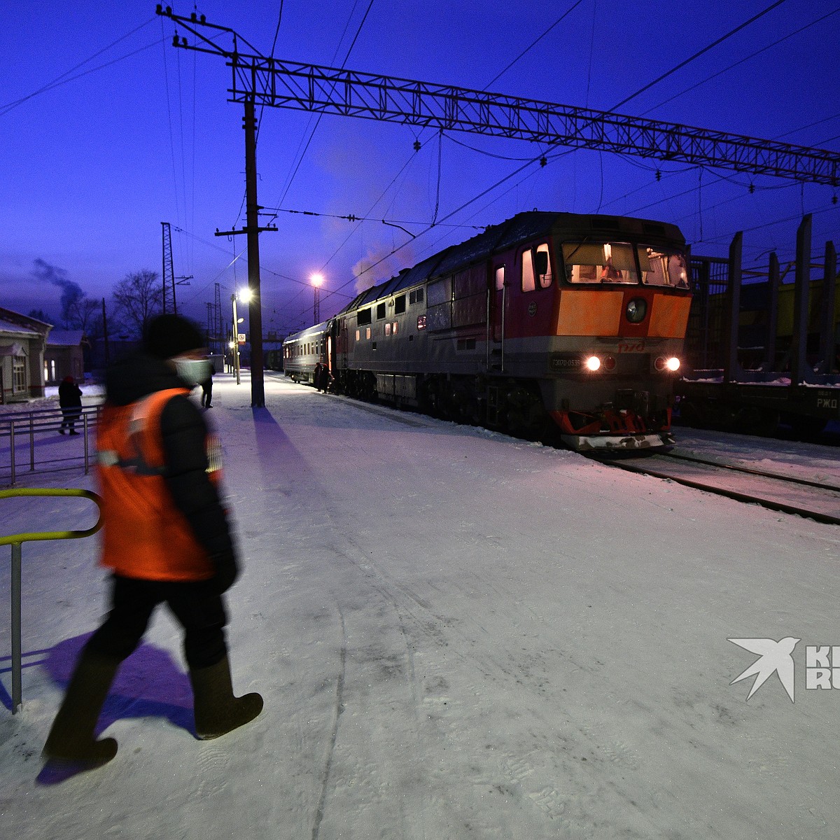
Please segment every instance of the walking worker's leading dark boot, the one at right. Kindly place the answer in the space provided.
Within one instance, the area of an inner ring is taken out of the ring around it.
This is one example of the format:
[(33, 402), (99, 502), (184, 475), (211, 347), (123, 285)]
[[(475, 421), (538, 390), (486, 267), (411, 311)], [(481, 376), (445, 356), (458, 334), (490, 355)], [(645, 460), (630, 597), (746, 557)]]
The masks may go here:
[(190, 682), (195, 698), (196, 736), (202, 741), (244, 726), (262, 711), (259, 694), (234, 697), (227, 656), (208, 668), (191, 668)]

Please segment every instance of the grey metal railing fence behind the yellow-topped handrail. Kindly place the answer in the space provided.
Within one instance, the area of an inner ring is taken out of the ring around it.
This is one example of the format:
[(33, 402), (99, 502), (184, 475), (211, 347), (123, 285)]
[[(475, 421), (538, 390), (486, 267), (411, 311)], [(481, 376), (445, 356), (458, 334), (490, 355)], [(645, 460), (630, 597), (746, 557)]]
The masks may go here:
[[(45, 435), (55, 435), (66, 424), (65, 413), (60, 408), (45, 408), (30, 412), (2, 412), (0, 413), (0, 447), (3, 447), (4, 439), (8, 439), (8, 469), (0, 472), (0, 482), (8, 486), (14, 486), (18, 480), (18, 473), (28, 471), (29, 473), (53, 472), (56, 470), (72, 469), (76, 466), (83, 466), (85, 475), (90, 473), (91, 461), (94, 447), (92, 440), (93, 428), (99, 422), (101, 404), (81, 408), (77, 417), (74, 417), (74, 425), (81, 426), (78, 433), (81, 438), (81, 452), (79, 448), (74, 449), (69, 457), (55, 457), (55, 450), (43, 446), (42, 457), (38, 457), (38, 449), (43, 444), (39, 440), (39, 447), (36, 447), (36, 438), (43, 438)], [(29, 470), (26, 470), (26, 462), (18, 464), (18, 449), (29, 444)], [(0, 449), (2, 452), (3, 449)], [(5, 465), (3, 465), (5, 467)]]

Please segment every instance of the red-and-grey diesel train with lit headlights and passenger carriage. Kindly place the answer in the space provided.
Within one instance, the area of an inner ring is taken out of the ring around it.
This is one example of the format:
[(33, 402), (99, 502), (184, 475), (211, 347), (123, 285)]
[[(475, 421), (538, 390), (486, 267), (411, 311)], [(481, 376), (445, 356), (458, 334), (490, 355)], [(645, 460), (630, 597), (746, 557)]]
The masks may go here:
[(690, 307), (667, 223), (519, 213), (284, 343), (286, 374), (573, 449), (672, 442)]

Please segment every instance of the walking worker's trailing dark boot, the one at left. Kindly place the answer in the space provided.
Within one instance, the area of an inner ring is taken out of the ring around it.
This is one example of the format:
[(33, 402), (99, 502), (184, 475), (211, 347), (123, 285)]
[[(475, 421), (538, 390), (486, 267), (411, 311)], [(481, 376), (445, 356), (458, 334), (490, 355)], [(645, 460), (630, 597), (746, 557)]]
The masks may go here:
[(113, 738), (97, 741), (93, 730), (120, 661), (82, 651), (44, 745), (45, 759), (98, 767), (117, 754), (117, 742)]

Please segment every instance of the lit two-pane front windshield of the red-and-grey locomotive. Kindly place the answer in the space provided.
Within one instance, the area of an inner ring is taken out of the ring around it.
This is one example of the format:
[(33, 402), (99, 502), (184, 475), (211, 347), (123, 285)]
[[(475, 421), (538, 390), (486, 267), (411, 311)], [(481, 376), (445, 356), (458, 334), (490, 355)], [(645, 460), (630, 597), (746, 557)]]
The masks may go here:
[[(637, 262), (638, 258), (638, 262)], [(566, 242), (566, 280), (570, 283), (637, 284), (687, 289), (685, 254), (629, 242)]]

